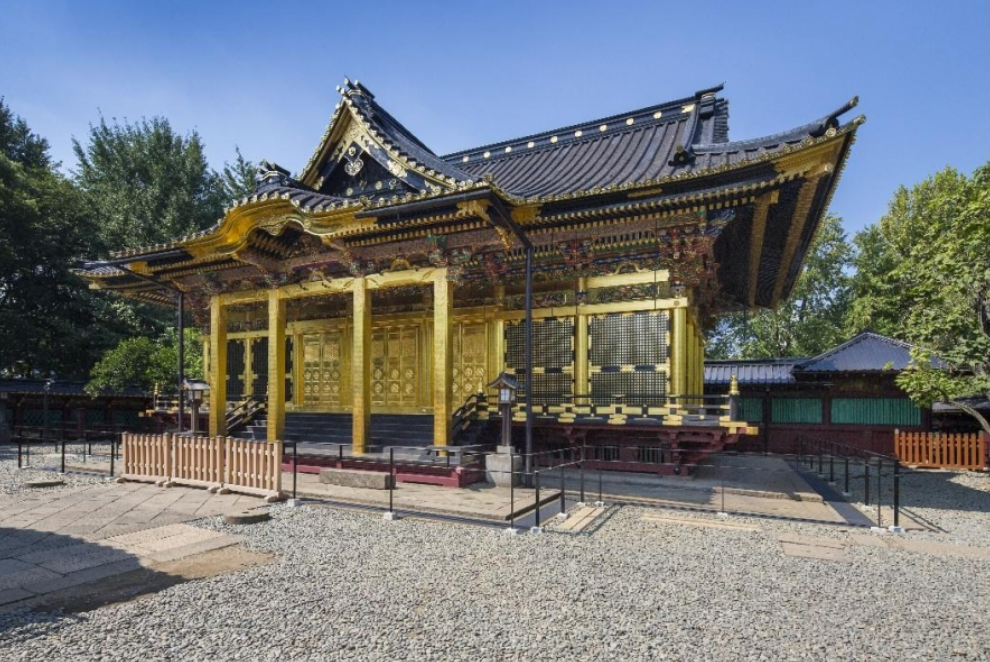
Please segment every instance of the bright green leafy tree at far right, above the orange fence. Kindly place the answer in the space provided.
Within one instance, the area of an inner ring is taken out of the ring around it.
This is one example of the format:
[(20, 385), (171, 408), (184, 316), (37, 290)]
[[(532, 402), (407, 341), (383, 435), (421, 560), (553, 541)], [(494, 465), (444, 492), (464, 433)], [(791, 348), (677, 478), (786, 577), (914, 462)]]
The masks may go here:
[(990, 433), (963, 400), (990, 402), (990, 163), (969, 179), (946, 168), (901, 188), (880, 231), (896, 255), (883, 307), (903, 311), (900, 336), (918, 345), (898, 384), (922, 405), (955, 404)]

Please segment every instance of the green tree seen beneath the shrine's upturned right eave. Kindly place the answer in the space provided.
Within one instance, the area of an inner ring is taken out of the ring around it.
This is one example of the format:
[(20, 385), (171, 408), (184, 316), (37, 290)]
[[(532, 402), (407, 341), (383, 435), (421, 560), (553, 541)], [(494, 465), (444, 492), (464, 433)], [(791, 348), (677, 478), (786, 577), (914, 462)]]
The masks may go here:
[(776, 310), (736, 312), (709, 331), (710, 358), (814, 356), (845, 340), (852, 249), (842, 220), (822, 219), (790, 298)]

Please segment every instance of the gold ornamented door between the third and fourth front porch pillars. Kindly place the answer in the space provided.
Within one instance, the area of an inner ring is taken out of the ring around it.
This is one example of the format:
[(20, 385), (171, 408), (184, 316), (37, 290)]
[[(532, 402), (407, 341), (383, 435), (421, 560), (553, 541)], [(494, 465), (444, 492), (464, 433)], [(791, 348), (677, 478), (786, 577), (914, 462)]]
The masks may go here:
[(371, 404), (415, 407), (419, 329), (378, 329), (371, 336)]

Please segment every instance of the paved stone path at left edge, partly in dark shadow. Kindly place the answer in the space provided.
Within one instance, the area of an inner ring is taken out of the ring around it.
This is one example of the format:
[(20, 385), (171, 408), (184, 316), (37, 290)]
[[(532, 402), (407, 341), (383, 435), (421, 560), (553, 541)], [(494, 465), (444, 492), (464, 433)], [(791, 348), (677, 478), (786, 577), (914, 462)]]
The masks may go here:
[(234, 545), (183, 522), (261, 504), (140, 483), (0, 495), (0, 605)]

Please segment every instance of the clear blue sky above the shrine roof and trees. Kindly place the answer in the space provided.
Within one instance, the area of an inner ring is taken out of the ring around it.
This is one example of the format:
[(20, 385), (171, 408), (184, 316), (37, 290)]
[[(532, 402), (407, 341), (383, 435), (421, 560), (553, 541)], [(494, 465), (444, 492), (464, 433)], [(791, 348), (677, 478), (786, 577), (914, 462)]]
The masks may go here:
[(859, 95), (832, 201), (849, 232), (893, 191), (990, 158), (990, 5), (953, 2), (21, 2), (0, 11), (0, 96), (66, 170), (108, 118), (196, 130), (298, 172), (345, 75), (437, 153), (726, 83), (733, 139)]

